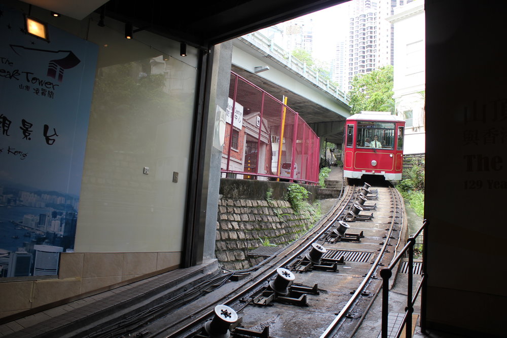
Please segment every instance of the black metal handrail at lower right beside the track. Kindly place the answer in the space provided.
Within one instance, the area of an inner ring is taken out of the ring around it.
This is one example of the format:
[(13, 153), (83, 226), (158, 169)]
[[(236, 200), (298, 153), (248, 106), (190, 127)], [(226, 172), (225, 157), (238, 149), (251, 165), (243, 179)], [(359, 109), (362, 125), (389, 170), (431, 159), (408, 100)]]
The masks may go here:
[[(408, 239), (407, 244), (403, 247), (399, 254), (391, 261), (387, 268), (383, 268), (380, 271), (380, 277), (382, 277), (382, 338), (388, 336), (388, 315), (389, 315), (389, 278), (392, 276), (392, 269), (396, 266), (397, 262), (403, 257), (408, 251), (408, 282), (407, 282), (407, 307), (405, 308), (405, 316), (403, 317), (402, 324), (396, 332), (396, 338), (401, 336), (402, 329), (405, 326), (406, 338), (412, 337), (412, 313), (414, 312), (414, 304), (419, 292), (421, 292), (421, 330), (426, 331), (426, 285), (427, 285), (427, 272), (426, 272), (426, 256), (427, 256), (427, 238), (428, 238), (428, 224), (429, 222), (425, 219), (422, 227)], [(424, 230), (423, 233), (423, 260), (422, 260), (422, 277), (419, 283), (415, 295), (412, 296), (412, 282), (413, 282), (413, 266), (414, 266), (414, 245), (416, 243), (417, 236)]]

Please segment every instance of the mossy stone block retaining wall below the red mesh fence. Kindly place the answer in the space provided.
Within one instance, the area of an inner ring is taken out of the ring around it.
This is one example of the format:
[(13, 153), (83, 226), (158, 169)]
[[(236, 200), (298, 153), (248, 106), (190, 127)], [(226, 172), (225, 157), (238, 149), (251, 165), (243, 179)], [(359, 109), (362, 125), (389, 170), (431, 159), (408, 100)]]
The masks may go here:
[(215, 255), (221, 266), (243, 270), (262, 258), (248, 258), (248, 251), (270, 244), (284, 246), (314, 224), (310, 212), (296, 213), (282, 200), (247, 200), (221, 197), (216, 225)]

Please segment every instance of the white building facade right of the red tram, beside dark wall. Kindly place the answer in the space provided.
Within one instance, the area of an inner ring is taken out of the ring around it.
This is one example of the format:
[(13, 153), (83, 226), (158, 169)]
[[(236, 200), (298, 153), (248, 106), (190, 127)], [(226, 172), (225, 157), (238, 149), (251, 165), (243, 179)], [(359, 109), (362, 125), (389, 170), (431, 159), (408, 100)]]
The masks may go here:
[(424, 0), (397, 7), (388, 18), (394, 25), (394, 101), (406, 121), (404, 154), (425, 152)]

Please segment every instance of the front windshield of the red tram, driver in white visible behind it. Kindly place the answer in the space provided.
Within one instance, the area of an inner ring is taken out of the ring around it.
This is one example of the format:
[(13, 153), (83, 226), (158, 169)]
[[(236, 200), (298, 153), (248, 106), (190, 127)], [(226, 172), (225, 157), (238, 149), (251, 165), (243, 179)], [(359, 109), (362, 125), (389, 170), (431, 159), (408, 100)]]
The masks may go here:
[(357, 147), (394, 148), (394, 123), (361, 121), (357, 123)]

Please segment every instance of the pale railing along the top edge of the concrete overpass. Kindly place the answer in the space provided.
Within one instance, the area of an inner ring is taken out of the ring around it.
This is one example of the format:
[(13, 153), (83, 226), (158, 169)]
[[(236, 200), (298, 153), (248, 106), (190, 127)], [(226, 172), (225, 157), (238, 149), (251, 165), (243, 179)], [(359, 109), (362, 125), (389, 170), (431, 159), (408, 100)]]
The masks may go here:
[(296, 71), (301, 76), (306, 78), (308, 81), (317, 85), (325, 92), (333, 95), (338, 98), (340, 101), (348, 104), (350, 101), (350, 97), (345, 94), (338, 86), (334, 85), (329, 81), (329, 79), (324, 78), (319, 75), (318, 70), (313, 69), (308, 66), (305, 62), (297, 59), (292, 56), (291, 53), (285, 51), (282, 47), (275, 44), (271, 39), (269, 39), (266, 35), (261, 32), (252, 32), (246, 35), (239, 37), (239, 39), (244, 40), (257, 48), (261, 49), (265, 53), (268, 53), (280, 63), (284, 64), (286, 67)]

